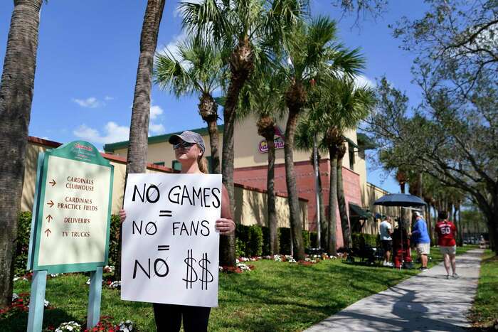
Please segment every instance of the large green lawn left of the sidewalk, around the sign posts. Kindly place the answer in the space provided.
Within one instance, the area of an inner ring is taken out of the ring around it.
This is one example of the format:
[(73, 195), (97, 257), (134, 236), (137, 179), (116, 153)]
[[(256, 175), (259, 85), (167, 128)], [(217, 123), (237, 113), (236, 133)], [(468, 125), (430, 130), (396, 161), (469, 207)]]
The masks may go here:
[[(462, 253), (472, 247), (458, 248)], [(440, 262), (433, 248), (430, 265)], [(341, 259), (310, 267), (263, 260), (243, 274), (220, 274), (219, 307), (211, 311), (210, 331), (302, 331), (359, 299), (383, 291), (418, 273), (346, 264)], [(417, 265), (418, 266), (418, 265)], [(88, 277), (73, 274), (49, 279), (46, 299), (55, 307), (46, 310), (43, 326), (63, 321), (85, 321)], [(29, 292), (30, 284), (18, 281), (15, 291)], [(115, 321), (131, 319), (142, 331), (155, 331), (152, 306), (120, 301), (119, 291), (102, 290), (102, 315)], [(0, 321), (1, 331), (26, 331), (27, 313)]]

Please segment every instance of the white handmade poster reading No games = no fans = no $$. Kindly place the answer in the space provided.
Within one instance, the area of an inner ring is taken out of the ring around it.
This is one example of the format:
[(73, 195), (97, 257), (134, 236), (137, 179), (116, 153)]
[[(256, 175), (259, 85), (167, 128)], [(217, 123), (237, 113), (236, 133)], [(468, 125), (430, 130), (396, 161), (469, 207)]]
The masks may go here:
[(219, 174), (129, 174), (121, 299), (218, 306)]

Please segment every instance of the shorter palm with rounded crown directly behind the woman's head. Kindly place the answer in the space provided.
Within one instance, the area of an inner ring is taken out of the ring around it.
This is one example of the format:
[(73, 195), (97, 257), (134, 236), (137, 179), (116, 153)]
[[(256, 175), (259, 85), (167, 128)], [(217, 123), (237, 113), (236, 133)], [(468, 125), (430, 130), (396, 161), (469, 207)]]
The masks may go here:
[(200, 38), (189, 38), (178, 45), (179, 58), (172, 53), (157, 55), (155, 77), (161, 87), (169, 87), (176, 97), (197, 94), (198, 112), (208, 124), (211, 146), (211, 171), (221, 173), (218, 152), (218, 104), (213, 92), (221, 87), (223, 60), (221, 53)]

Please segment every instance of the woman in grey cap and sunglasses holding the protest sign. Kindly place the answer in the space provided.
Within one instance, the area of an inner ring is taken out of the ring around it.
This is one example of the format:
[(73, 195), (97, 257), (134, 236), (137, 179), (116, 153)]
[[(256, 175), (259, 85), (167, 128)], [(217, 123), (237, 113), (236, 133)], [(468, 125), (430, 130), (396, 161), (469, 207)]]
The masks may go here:
[[(181, 173), (208, 173), (208, 161), (204, 157), (205, 145), (202, 136), (195, 132), (183, 132), (171, 135), (169, 143), (173, 144), (176, 160), (181, 164)], [(126, 218), (120, 210), (121, 222)], [(235, 223), (230, 212), (230, 198), (225, 186), (221, 196), (221, 218), (216, 220), (216, 230), (221, 235), (228, 235), (235, 230)], [(184, 330), (207, 331), (211, 308), (203, 306), (181, 306), (176, 304), (154, 304), (154, 318), (157, 331), (180, 331), (183, 317)]]

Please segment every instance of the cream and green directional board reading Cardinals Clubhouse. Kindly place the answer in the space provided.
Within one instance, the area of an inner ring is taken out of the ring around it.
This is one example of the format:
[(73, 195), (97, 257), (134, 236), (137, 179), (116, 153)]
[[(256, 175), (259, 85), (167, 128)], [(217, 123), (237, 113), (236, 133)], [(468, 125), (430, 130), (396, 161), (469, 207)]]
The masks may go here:
[(73, 141), (38, 158), (28, 269), (92, 271), (107, 263), (113, 166)]

